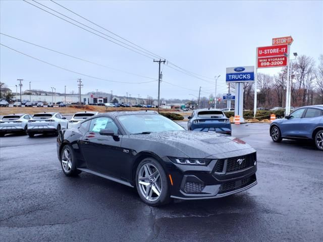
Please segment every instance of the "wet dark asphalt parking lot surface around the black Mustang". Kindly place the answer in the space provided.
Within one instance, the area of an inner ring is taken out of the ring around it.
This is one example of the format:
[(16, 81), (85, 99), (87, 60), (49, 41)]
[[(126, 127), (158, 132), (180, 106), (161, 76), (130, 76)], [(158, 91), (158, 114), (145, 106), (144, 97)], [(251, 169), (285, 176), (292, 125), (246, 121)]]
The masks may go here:
[(1, 138), (0, 240), (322, 241), (323, 153), (310, 142), (274, 143), (268, 128), (233, 126), (257, 150), (257, 186), (160, 208), (101, 177), (66, 177), (56, 137)]

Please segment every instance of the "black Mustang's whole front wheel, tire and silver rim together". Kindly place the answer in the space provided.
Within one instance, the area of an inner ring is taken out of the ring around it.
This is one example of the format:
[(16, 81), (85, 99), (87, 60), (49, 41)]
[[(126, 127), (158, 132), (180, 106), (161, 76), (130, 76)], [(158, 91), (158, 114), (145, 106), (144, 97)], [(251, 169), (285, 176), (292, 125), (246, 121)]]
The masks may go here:
[(153, 158), (145, 158), (139, 163), (136, 188), (142, 201), (150, 206), (160, 206), (171, 201), (167, 175), (163, 166)]

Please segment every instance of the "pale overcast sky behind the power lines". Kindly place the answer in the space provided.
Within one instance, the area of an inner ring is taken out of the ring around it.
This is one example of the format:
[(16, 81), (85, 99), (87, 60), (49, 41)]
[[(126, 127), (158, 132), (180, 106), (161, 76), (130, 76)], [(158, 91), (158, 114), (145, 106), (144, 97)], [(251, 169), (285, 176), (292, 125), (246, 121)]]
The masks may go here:
[[(37, 5), (34, 2), (31, 2)], [(40, 1), (104, 34), (111, 33), (91, 25), (60, 6)], [(256, 47), (271, 45), (273, 37), (291, 35), (291, 52), (315, 59), (323, 53), (323, 1), (59, 1), (64, 7), (95, 22), (133, 43), (165, 57), (167, 61), (199, 76), (200, 80), (162, 65), (160, 95), (164, 98), (193, 98), (214, 93), (214, 76), (221, 75), (218, 93), (226, 93), (226, 67), (255, 65)], [(37, 5), (39, 6), (39, 5)], [(41, 6), (39, 6), (41, 7)], [(43, 8), (43, 7), (42, 7)], [(1, 32), (47, 48), (55, 49), (100, 65), (139, 74), (129, 75), (92, 65), (0, 35), (1, 43), (50, 64), (116, 82), (149, 82), (158, 78), (158, 65), (151, 58), (123, 48), (23, 1), (1, 1)], [(106, 36), (105, 36), (106, 37)], [(116, 37), (116, 36), (115, 36)], [(107, 37), (106, 37), (107, 38)], [(122, 40), (123, 41), (123, 40)], [(132, 97), (157, 97), (157, 82), (120, 84), (93, 79), (41, 63), (1, 46), (1, 81), (13, 91), (17, 79), (24, 79), (23, 90), (57, 92), (77, 89), (82, 93), (110, 92)], [(280, 68), (261, 69), (275, 74)], [(147, 77), (147, 78), (146, 78)], [(178, 85), (172, 86), (166, 82)], [(188, 90), (191, 89), (191, 90)]]

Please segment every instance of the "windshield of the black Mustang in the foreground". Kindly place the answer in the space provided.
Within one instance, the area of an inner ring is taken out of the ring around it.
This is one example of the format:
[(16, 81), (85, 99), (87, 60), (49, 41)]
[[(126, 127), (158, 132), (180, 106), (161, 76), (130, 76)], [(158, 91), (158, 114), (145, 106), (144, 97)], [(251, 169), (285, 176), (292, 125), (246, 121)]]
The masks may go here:
[(118, 116), (118, 120), (130, 134), (185, 130), (167, 117), (158, 114), (121, 115)]

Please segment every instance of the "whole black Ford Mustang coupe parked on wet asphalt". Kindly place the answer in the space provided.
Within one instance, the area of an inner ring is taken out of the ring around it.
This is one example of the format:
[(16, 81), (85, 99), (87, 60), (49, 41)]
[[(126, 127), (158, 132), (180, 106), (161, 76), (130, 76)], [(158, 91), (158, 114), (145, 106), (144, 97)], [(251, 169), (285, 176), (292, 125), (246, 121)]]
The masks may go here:
[(61, 130), (57, 151), (66, 175), (85, 171), (135, 187), (152, 206), (224, 197), (257, 184), (256, 152), (245, 142), (185, 131), (150, 111), (92, 116)]

